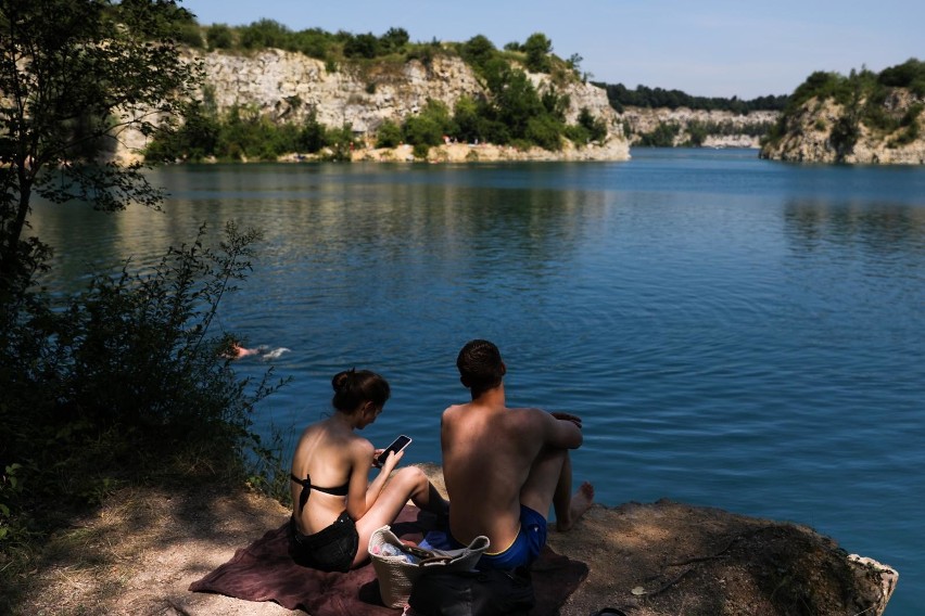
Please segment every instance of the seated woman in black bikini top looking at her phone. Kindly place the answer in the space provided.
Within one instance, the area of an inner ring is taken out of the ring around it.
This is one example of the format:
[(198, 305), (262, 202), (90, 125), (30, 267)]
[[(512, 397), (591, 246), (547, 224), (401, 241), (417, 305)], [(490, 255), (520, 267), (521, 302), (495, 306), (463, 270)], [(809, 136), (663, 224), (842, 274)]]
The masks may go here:
[(367, 370), (347, 370), (331, 385), (333, 414), (305, 428), (292, 458), (289, 553), (306, 567), (347, 572), (368, 557), (372, 531), (393, 523), (408, 499), (443, 515), (448, 503), (416, 466), (389, 477), (404, 452), (391, 452), (369, 482), (382, 450), (354, 431), (382, 412), (389, 383)]

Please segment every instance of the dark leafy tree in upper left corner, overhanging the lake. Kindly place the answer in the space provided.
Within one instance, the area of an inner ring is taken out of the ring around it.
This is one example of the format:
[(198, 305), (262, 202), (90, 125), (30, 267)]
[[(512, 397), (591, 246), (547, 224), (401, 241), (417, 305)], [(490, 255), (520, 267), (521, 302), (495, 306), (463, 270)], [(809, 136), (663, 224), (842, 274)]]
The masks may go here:
[(127, 128), (177, 116), (195, 66), (174, 0), (0, 0), (0, 307), (48, 253), (26, 238), (33, 195), (102, 210), (160, 203), (138, 166), (106, 161)]

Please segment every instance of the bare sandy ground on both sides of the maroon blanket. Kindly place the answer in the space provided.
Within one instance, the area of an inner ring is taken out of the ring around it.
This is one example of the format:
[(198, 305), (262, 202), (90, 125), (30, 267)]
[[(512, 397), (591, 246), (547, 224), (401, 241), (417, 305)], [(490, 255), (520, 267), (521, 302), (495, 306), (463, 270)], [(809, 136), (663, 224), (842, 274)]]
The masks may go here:
[[(439, 467), (426, 470), (442, 486)], [(24, 580), (18, 613), (293, 614), (187, 590), (288, 515), (243, 489), (124, 489), (51, 539)], [(595, 504), (569, 532), (550, 532), (549, 543), (590, 567), (566, 616), (605, 606), (630, 616), (877, 615), (896, 583), (891, 569), (850, 565), (834, 541), (808, 528), (670, 501)]]

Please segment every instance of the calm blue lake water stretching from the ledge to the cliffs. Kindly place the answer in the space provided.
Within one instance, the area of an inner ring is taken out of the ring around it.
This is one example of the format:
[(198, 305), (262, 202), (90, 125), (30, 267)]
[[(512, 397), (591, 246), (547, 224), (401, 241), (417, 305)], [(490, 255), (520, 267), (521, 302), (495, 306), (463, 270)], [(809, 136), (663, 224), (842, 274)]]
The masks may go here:
[[(496, 342), (508, 402), (580, 414), (576, 479), (807, 524), (892, 565), (925, 605), (925, 169), (634, 150), (625, 163), (164, 168), (165, 213), (38, 206), (54, 283), (201, 222), (262, 228), (219, 326), (283, 346), (257, 425), (294, 435), (331, 376), (393, 386), (365, 434), (440, 461), (455, 357)], [(246, 359), (244, 374), (266, 364)], [(290, 440), (291, 442), (291, 440)]]

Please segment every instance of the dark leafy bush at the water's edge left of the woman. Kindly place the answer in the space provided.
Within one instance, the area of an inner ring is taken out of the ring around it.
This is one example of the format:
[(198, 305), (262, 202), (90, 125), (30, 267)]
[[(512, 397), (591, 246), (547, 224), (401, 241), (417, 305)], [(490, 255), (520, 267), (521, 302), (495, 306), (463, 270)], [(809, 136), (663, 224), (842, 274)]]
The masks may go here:
[[(0, 502), (16, 527), (47, 528), (124, 482), (178, 472), (185, 459), (206, 473), (245, 472), (254, 405), (282, 383), (270, 384), (271, 371), (259, 383), (237, 377), (232, 339), (213, 323), (250, 271), (259, 233), (229, 223), (217, 249), (204, 238), (203, 227), (150, 273), (129, 262), (98, 273), (63, 306), (33, 291), (4, 323)], [(12, 478), (27, 489), (11, 491)]]

